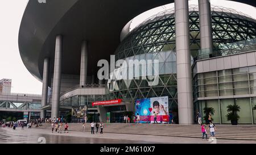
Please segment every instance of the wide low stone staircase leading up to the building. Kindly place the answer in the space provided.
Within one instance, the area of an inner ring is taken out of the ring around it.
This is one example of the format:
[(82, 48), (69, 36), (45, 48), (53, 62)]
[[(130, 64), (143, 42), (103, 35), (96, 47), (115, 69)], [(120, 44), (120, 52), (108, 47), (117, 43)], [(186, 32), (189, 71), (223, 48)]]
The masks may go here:
[[(82, 131), (82, 123), (69, 123), (69, 131)], [(64, 125), (63, 125), (64, 127)], [(42, 129), (51, 129), (49, 123), (43, 123)], [(94, 127), (94, 132), (96, 128)], [(85, 132), (90, 132), (90, 124), (85, 124)], [(99, 131), (100, 132), (100, 128)], [(210, 136), (209, 128), (207, 129)], [(125, 133), (133, 135), (175, 136), (201, 138), (200, 125), (179, 124), (135, 124), (105, 123), (104, 133)], [(220, 125), (216, 124), (217, 139), (256, 140), (256, 125)]]

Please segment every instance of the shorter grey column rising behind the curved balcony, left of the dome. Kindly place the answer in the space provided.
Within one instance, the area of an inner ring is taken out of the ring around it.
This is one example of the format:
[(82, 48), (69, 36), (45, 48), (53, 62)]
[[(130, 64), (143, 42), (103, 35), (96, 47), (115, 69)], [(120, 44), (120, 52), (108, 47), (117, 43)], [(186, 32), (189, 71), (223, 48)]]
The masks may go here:
[(88, 62), (88, 41), (82, 41), (81, 47), (81, 66), (80, 66), (80, 87), (86, 85)]

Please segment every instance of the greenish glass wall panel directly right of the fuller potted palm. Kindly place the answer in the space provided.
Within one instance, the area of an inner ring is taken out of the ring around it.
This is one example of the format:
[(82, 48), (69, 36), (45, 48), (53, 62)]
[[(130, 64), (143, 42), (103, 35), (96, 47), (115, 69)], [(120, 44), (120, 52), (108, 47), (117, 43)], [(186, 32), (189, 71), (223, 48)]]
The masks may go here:
[(237, 112), (240, 116), (238, 123), (251, 123), (250, 98), (238, 98), (236, 104), (241, 108), (240, 112)]

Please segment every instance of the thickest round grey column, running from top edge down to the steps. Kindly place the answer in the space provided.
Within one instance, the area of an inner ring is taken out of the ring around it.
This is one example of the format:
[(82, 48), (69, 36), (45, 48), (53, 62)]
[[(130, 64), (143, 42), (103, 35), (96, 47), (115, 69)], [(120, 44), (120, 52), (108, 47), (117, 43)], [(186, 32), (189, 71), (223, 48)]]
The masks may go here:
[(193, 124), (188, 0), (175, 0), (174, 2), (179, 124)]

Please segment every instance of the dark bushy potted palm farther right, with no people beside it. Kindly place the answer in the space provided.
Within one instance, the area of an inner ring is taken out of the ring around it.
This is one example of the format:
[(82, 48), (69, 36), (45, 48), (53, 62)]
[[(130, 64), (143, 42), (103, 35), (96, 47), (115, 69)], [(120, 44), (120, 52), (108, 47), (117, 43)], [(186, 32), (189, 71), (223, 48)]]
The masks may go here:
[(240, 118), (237, 112), (240, 111), (240, 106), (229, 104), (227, 108), (229, 112), (228, 115), (226, 115), (227, 120), (230, 120), (232, 125), (237, 125), (238, 119)]

